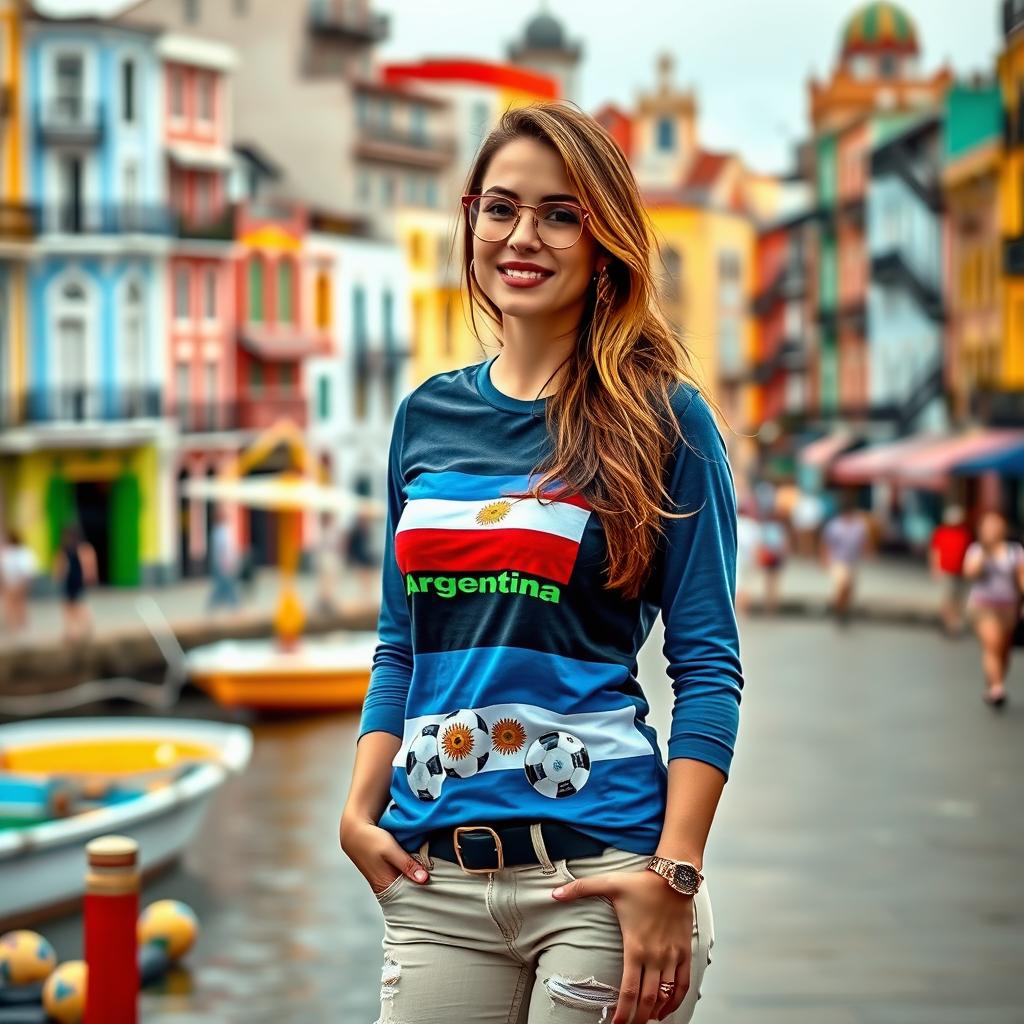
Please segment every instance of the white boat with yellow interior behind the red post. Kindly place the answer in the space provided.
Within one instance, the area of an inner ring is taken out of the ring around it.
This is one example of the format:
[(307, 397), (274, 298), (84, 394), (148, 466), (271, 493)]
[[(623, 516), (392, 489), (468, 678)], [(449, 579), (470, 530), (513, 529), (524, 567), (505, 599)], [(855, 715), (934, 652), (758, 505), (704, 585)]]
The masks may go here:
[(173, 865), (251, 753), (246, 727), (218, 722), (0, 725), (0, 933), (77, 909), (85, 845), (98, 836), (134, 839), (143, 880)]

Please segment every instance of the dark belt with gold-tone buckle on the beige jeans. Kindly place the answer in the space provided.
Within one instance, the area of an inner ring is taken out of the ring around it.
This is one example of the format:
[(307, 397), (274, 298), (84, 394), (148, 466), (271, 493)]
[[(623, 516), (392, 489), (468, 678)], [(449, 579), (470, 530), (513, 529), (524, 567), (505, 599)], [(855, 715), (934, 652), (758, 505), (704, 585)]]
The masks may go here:
[[(464, 871), (484, 873), (514, 864), (539, 864), (529, 825), (460, 825), (440, 828), (426, 837), (431, 857), (454, 860)], [(544, 847), (552, 860), (596, 857), (607, 844), (556, 821), (541, 825)]]

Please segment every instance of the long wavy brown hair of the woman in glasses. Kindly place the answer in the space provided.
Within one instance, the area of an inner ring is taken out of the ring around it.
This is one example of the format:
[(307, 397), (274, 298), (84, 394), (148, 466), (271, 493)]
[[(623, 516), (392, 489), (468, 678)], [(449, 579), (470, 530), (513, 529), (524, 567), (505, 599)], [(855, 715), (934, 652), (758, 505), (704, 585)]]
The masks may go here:
[[(670, 395), (684, 381), (699, 387), (689, 354), (660, 309), (652, 266), (657, 247), (636, 178), (597, 121), (564, 101), (507, 111), (480, 147), (466, 193), (479, 193), (495, 154), (523, 137), (562, 158), (590, 211), (587, 224), (598, 249), (610, 257), (606, 280), (590, 286), (575, 348), (558, 390), (548, 397), (554, 443), (534, 470), (539, 479), (531, 494), (550, 495), (549, 484), (561, 481), (588, 500), (607, 539), (605, 588), (635, 598), (651, 569), (663, 520), (693, 514), (662, 505), (673, 504), (664, 472), (681, 438)], [(465, 219), (462, 229), (472, 330), (482, 346), (479, 309), (493, 322), (501, 346), (502, 312), (472, 274), (473, 236)]]

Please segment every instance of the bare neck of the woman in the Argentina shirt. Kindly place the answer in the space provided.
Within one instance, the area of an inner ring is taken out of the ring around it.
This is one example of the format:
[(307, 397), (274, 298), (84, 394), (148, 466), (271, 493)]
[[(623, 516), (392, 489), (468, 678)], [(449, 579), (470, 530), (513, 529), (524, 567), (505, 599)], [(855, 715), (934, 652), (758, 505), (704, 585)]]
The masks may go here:
[(572, 307), (543, 321), (503, 316), (503, 345), (490, 368), (492, 384), (526, 401), (554, 394), (565, 372), (562, 364), (575, 348), (581, 313), (582, 308)]

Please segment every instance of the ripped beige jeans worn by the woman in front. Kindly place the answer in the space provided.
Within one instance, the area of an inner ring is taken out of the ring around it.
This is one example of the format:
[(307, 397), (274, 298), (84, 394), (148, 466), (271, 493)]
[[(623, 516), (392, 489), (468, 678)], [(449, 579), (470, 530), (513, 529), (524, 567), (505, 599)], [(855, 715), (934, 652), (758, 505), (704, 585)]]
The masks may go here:
[[(555, 860), (538, 830), (540, 864), (467, 874), (452, 861), (416, 858), (430, 870), (418, 886), (399, 876), (378, 895), (384, 967), (377, 1024), (606, 1024), (618, 998), (623, 939), (611, 902), (559, 903), (551, 890), (606, 871), (643, 870), (646, 854), (608, 848)], [(686, 1024), (711, 964), (714, 923), (708, 884), (693, 899), (690, 987), (669, 1018)]]

